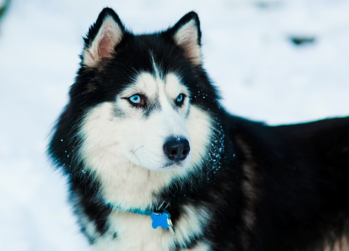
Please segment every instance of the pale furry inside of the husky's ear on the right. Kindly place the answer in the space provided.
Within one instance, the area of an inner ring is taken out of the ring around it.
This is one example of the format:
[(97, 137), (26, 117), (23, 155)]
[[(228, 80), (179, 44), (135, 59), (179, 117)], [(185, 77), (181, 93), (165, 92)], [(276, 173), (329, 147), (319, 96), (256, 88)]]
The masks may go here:
[(184, 48), (192, 63), (195, 65), (201, 64), (200, 45), (198, 44), (198, 28), (194, 19), (179, 28), (174, 34), (173, 39), (177, 45)]

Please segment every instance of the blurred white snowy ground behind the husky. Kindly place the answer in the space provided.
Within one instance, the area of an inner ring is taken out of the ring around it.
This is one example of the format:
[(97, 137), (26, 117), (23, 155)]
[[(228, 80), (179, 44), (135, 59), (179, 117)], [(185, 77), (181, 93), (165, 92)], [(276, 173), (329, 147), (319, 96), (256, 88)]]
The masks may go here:
[[(0, 22), (0, 250), (88, 250), (45, 148), (82, 36), (110, 6), (136, 33), (198, 12), (204, 63), (236, 115), (269, 124), (349, 115), (349, 1), (13, 0)], [(214, 2), (214, 3), (213, 3)], [(314, 36), (295, 46), (291, 36)]]

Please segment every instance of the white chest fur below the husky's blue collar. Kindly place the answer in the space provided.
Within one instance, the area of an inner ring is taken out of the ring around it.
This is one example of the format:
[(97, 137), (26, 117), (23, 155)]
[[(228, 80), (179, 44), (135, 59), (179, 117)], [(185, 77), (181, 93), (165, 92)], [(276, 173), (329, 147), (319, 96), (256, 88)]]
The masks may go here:
[[(108, 251), (172, 251), (175, 244), (185, 246), (190, 237), (202, 233), (209, 218), (208, 213), (201, 208), (185, 206), (184, 213), (178, 220), (176, 234), (158, 227), (151, 228), (151, 219), (148, 215), (115, 211), (109, 217), (111, 223), (109, 231), (92, 245), (94, 250)], [(112, 238), (117, 232), (116, 238)], [(209, 245), (198, 243), (191, 251), (208, 251)]]

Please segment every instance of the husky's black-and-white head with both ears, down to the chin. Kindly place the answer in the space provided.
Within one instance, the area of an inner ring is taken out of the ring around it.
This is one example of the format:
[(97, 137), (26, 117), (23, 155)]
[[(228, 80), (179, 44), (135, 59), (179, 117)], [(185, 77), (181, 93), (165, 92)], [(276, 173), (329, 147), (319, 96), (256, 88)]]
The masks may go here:
[(212, 126), (197, 98), (209, 99), (198, 78), (200, 37), (195, 13), (167, 31), (135, 36), (111, 9), (102, 11), (70, 92), (84, 113), (80, 159), (91, 168), (122, 160), (157, 171), (203, 159)]

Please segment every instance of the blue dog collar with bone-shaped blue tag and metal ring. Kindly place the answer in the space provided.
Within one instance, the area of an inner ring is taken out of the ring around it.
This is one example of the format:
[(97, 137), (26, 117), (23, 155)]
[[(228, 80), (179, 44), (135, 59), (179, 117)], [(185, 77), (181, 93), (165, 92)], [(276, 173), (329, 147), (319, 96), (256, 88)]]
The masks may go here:
[(155, 229), (157, 227), (163, 227), (164, 229), (169, 229), (171, 234), (174, 235), (174, 229), (171, 221), (171, 214), (162, 209), (162, 212), (154, 212), (151, 210), (141, 210), (141, 209), (123, 209), (120, 206), (114, 206), (111, 203), (107, 203), (112, 209), (116, 209), (122, 212), (136, 213), (141, 215), (150, 215), (150, 218), (153, 220), (151, 226)]

